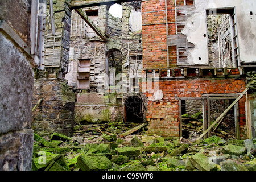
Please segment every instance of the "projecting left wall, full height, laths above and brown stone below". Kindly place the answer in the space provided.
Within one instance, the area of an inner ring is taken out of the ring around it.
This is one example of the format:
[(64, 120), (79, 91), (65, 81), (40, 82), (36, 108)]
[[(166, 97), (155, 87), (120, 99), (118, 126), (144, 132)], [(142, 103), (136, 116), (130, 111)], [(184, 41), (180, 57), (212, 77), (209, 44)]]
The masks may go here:
[[(70, 0), (53, 1), (56, 35), (52, 35), (49, 14), (46, 18), (44, 69), (35, 71), (33, 105), (43, 99), (33, 113), (32, 128), (39, 135), (53, 132), (73, 136), (75, 93), (69, 92), (69, 39), (71, 29)], [(49, 12), (49, 2), (47, 4)]]

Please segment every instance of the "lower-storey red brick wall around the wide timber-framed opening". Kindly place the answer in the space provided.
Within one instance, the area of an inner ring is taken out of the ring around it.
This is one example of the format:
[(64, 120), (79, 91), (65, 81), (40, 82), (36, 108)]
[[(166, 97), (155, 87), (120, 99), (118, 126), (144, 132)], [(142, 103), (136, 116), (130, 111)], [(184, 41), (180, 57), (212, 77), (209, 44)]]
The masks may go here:
[[(175, 97), (201, 97), (209, 93), (242, 93), (245, 81), (242, 79), (210, 79), (197, 78), (190, 80), (160, 80), (159, 90), (164, 96), (160, 101), (149, 101), (147, 121), (149, 132), (168, 138), (179, 137), (179, 100)], [(146, 93), (146, 96), (153, 94)], [(245, 126), (245, 96), (239, 101), (241, 139), (246, 138), (243, 133)]]

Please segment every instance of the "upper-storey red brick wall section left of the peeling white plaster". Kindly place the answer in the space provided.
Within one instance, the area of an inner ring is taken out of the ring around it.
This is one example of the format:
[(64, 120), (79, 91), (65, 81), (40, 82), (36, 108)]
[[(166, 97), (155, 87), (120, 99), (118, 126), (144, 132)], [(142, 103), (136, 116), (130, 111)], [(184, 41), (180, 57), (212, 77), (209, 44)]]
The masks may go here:
[[(174, 0), (167, 1), (168, 34), (175, 34)], [(142, 2), (143, 67), (167, 68), (166, 9), (164, 0)]]

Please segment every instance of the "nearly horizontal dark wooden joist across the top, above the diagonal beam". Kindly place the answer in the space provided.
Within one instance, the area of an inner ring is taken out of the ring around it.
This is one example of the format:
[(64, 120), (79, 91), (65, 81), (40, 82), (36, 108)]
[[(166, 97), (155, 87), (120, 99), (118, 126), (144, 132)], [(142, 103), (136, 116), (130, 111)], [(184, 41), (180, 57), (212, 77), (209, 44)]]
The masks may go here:
[(81, 1), (81, 3), (76, 3), (75, 1), (71, 1), (71, 10), (74, 9), (81, 9), (84, 7), (94, 7), (94, 6), (102, 6), (102, 5), (114, 5), (115, 3), (123, 3), (123, 2), (132, 2), (132, 1), (140, 1), (140, 0), (100, 0), (89, 2), (88, 1)]

